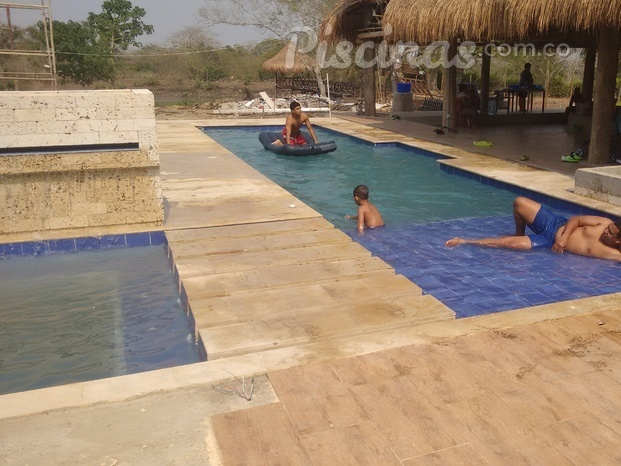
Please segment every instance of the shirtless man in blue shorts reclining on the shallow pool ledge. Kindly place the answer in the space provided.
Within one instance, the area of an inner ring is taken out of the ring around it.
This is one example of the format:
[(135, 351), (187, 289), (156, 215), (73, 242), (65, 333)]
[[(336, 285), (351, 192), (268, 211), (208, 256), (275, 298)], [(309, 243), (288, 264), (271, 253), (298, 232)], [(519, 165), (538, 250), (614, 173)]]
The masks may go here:
[[(446, 246), (476, 244), (518, 250), (550, 248), (557, 253), (567, 251), (621, 262), (621, 220), (614, 222), (594, 215), (578, 215), (567, 219), (521, 196), (513, 201), (513, 217), (515, 236), (453, 238), (446, 242)], [(534, 234), (526, 235), (526, 226)]]

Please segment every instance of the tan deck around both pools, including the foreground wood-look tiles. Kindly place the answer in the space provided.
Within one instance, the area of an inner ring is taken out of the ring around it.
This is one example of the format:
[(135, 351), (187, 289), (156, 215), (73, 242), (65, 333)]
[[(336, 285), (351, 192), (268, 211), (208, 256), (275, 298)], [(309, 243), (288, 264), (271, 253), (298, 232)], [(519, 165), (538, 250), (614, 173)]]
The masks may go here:
[[(565, 174), (313, 122), (621, 215)], [(621, 294), (454, 320), (196, 128), (239, 124), (157, 125), (164, 229), (211, 360), (1, 396), (3, 464), (618, 461)], [(212, 389), (232, 374), (256, 376), (252, 401)]]

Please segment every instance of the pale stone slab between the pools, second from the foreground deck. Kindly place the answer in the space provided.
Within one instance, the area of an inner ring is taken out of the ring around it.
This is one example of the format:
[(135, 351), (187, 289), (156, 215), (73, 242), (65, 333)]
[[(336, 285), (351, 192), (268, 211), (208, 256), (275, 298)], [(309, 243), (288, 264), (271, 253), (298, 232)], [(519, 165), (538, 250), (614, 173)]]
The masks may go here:
[(196, 327), (204, 329), (286, 313), (305, 313), (351, 302), (377, 301), (403, 295), (422, 295), (420, 287), (403, 275), (383, 275), (333, 282), (305, 283), (277, 289), (238, 291), (228, 296), (191, 300)]

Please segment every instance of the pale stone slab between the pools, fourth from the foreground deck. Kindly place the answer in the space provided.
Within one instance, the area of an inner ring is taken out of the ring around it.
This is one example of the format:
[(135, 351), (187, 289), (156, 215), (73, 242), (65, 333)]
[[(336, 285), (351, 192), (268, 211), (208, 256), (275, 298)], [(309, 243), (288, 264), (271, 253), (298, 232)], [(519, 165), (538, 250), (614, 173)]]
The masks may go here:
[(175, 258), (175, 267), (177, 272), (187, 279), (196, 275), (220, 274), (280, 265), (311, 264), (360, 256), (369, 256), (369, 251), (358, 243), (349, 241), (236, 254), (204, 253), (192, 257)]

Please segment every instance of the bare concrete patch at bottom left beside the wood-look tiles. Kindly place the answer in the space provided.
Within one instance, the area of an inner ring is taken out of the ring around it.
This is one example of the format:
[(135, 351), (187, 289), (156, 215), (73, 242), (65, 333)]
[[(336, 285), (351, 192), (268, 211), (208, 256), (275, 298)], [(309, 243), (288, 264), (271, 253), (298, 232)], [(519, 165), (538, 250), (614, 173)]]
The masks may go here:
[(210, 416), (275, 402), (267, 377), (260, 376), (251, 401), (196, 386), (6, 419), (0, 421), (0, 464), (217, 465)]

